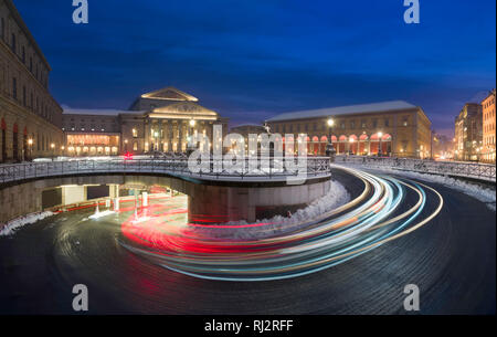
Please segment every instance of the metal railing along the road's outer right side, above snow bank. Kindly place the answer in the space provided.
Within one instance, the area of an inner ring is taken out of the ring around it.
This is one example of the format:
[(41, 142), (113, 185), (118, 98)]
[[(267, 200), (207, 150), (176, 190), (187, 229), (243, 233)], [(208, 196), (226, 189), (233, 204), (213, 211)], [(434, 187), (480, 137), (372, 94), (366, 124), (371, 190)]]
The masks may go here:
[(413, 158), (381, 158), (360, 156), (337, 156), (337, 164), (351, 162), (372, 168), (390, 168), (421, 173), (464, 177), (485, 181), (496, 181), (496, 167), (490, 164), (435, 161)]

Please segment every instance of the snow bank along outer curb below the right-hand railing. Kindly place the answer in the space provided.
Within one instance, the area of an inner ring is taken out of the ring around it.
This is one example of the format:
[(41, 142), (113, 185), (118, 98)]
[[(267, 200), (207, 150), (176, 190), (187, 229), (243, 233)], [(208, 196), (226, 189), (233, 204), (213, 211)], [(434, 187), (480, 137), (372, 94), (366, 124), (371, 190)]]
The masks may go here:
[(496, 211), (496, 190), (490, 189), (490, 188), (485, 188), (482, 185), (472, 183), (472, 182), (465, 181), (463, 179), (456, 179), (456, 178), (451, 178), (447, 176), (441, 176), (441, 175), (435, 175), (435, 173), (433, 173), (433, 175), (420, 173), (420, 172), (413, 172), (413, 171), (396, 170), (396, 169), (392, 169), (392, 168), (368, 167), (368, 166), (362, 166), (362, 165), (357, 165), (357, 164), (341, 164), (341, 165), (347, 166), (347, 167), (353, 167), (357, 169), (368, 168), (368, 169), (377, 170), (380, 172), (389, 172), (389, 173), (403, 176), (403, 177), (408, 177), (408, 178), (414, 178), (414, 179), (425, 180), (425, 181), (430, 181), (430, 182), (441, 183), (443, 186), (446, 186), (448, 188), (452, 188), (459, 192), (463, 192), (469, 197), (473, 197), (473, 198), (486, 203), (487, 207), (490, 210), (493, 210), (494, 212)]

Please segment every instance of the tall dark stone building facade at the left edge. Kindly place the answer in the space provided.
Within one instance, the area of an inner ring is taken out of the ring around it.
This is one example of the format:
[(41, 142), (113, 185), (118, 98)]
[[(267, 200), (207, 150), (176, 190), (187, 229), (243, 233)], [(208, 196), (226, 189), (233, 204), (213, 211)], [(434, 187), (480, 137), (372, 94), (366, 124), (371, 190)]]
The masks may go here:
[(51, 67), (11, 0), (0, 0), (0, 161), (62, 150), (62, 108), (49, 92)]

